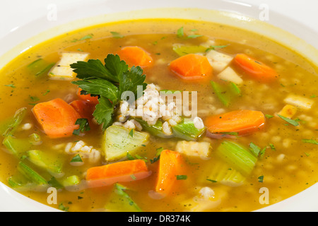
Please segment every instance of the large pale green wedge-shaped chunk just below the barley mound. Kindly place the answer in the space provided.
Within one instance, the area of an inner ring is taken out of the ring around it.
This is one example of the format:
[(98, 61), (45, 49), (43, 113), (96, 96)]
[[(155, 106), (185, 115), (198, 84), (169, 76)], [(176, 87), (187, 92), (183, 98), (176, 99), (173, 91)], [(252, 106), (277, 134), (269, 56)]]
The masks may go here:
[(131, 136), (130, 131), (130, 129), (114, 125), (106, 129), (103, 136), (103, 151), (107, 162), (124, 158), (127, 153), (134, 155), (148, 142), (148, 133), (134, 131), (134, 136)]

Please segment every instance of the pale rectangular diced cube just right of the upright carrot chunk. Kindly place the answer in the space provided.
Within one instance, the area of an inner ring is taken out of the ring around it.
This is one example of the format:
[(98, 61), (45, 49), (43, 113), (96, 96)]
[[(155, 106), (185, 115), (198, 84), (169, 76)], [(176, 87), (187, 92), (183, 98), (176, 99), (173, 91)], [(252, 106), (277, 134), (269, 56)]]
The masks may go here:
[(205, 159), (210, 155), (211, 145), (208, 142), (178, 141), (175, 150), (184, 155)]

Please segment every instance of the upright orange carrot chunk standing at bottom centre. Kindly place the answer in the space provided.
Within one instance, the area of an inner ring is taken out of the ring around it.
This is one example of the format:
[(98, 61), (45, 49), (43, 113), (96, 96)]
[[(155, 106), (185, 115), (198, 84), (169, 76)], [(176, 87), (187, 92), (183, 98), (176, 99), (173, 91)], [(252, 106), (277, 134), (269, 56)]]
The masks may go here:
[(177, 184), (177, 176), (185, 175), (184, 161), (182, 155), (176, 151), (163, 150), (160, 153), (158, 178), (155, 191), (167, 196)]

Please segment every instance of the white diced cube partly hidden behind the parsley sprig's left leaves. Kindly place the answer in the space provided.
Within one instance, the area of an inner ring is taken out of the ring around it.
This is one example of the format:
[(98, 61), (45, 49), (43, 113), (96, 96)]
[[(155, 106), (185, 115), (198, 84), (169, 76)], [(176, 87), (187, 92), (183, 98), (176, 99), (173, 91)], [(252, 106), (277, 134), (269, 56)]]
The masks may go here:
[(77, 61), (87, 61), (89, 55), (87, 52), (63, 52), (59, 62), (49, 71), (49, 78), (53, 80), (73, 80), (73, 78), (76, 78), (76, 73), (73, 72), (70, 65)]

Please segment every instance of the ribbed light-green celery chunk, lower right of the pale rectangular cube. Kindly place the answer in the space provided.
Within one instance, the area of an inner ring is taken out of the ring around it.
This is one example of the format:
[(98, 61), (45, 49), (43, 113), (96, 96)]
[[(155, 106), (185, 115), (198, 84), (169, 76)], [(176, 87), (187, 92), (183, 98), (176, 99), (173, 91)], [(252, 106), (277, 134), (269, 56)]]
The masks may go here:
[(254, 168), (257, 157), (248, 148), (232, 141), (223, 141), (215, 151), (221, 160), (247, 177)]

